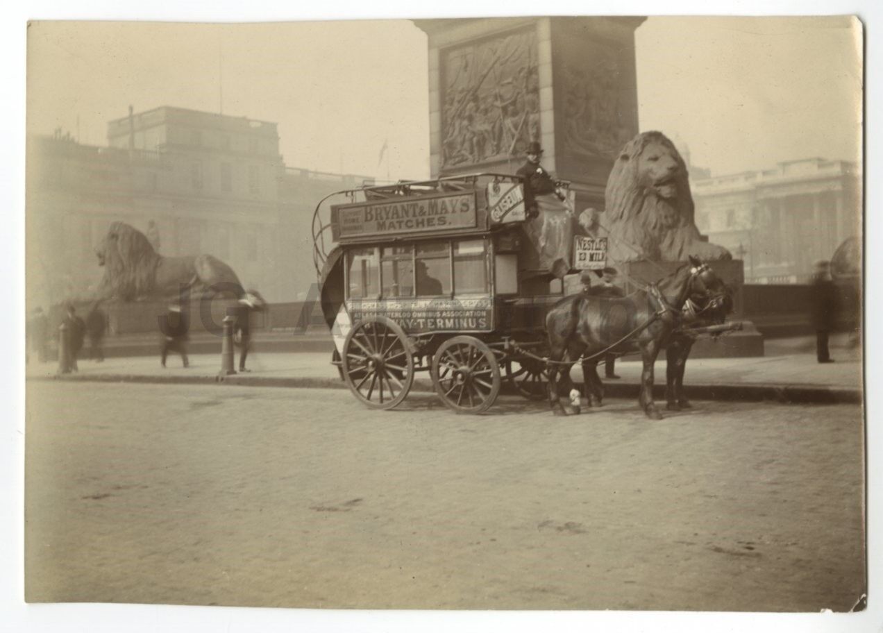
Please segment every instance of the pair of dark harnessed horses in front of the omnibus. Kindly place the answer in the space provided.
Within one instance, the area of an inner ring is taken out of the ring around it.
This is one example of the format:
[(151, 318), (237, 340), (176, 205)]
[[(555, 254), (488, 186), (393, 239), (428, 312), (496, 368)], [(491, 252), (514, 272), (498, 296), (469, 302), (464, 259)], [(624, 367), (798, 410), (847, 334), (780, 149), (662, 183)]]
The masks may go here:
[[(674, 273), (625, 298), (592, 297), (585, 294), (563, 298), (546, 316), (549, 337), (548, 398), (556, 414), (577, 413), (576, 407), (563, 405), (558, 398), (558, 375), (568, 391), (570, 368), (583, 356), (585, 396), (592, 406), (600, 406), (603, 388), (596, 365), (604, 357), (599, 352), (628, 336), (610, 351), (622, 354), (641, 351), (638, 403), (648, 418), (662, 415), (653, 403), (653, 365), (663, 347), (668, 346), (669, 408), (689, 406), (683, 399), (683, 366), (690, 353), (692, 339), (679, 331), (685, 320), (711, 320), (732, 306), (729, 290), (712, 268), (691, 257)], [(721, 319), (722, 320), (722, 319)], [(631, 335), (630, 335), (631, 334)], [(630, 336), (629, 336), (630, 335)], [(594, 357), (594, 358), (592, 358)]]

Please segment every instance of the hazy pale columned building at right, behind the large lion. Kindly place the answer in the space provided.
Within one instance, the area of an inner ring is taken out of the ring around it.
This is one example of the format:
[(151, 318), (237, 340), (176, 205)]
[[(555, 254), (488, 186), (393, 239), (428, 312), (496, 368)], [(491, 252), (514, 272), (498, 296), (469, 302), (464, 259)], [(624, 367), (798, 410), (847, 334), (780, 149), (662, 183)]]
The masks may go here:
[(745, 262), (747, 283), (804, 283), (859, 235), (861, 173), (854, 162), (810, 158), (772, 170), (691, 177), (696, 224)]

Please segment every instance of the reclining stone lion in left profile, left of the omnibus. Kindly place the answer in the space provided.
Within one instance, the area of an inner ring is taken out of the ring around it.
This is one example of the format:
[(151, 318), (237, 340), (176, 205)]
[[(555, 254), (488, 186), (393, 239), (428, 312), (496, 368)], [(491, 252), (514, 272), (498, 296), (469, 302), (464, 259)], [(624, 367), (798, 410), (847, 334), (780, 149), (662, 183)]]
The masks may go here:
[(144, 233), (125, 222), (110, 224), (95, 254), (104, 268), (98, 298), (177, 298), (184, 287), (194, 295), (243, 295), (236, 273), (223, 261), (211, 255), (163, 257)]

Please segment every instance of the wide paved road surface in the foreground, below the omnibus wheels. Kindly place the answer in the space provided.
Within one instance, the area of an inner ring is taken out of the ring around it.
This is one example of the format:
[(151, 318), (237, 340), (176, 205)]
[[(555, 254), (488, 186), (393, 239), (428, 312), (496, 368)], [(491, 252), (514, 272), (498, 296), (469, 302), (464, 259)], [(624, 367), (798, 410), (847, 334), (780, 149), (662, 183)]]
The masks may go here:
[(849, 610), (857, 406), (30, 382), (30, 601)]

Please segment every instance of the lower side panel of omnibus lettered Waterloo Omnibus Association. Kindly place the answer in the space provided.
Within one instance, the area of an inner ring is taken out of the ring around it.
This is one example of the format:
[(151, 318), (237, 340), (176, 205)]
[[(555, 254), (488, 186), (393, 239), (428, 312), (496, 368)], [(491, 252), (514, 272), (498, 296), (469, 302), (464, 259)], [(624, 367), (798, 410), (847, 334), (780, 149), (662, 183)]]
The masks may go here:
[(408, 334), (487, 331), (494, 328), (490, 298), (403, 298), (350, 301), (353, 322), (380, 314), (396, 321)]

